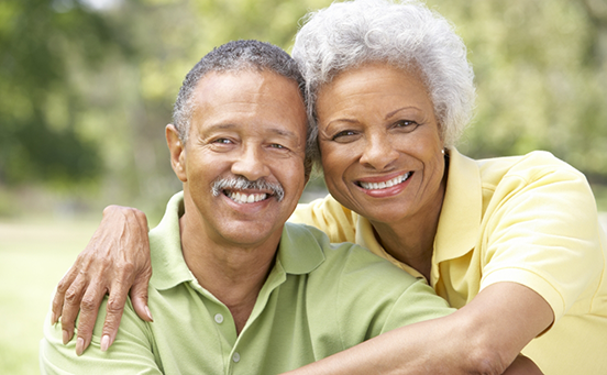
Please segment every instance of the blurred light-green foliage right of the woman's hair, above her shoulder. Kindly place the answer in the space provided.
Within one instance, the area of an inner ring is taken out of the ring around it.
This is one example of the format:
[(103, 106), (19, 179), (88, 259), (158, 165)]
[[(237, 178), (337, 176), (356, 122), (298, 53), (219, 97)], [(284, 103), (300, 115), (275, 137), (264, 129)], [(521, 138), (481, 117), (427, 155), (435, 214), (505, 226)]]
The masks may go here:
[(607, 183), (607, 2), (430, 2), (456, 25), (476, 74), (476, 118), (460, 148), (548, 150)]

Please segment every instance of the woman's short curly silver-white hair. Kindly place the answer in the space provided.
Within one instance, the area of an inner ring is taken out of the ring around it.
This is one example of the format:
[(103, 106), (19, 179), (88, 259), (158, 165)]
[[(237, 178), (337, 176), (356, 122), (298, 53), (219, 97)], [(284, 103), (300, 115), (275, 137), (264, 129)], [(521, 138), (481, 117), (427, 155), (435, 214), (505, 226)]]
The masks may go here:
[(384, 62), (421, 74), (445, 146), (456, 143), (472, 118), (474, 73), (466, 47), (449, 21), (416, 0), (334, 2), (309, 13), (297, 33), (293, 56), (306, 79), (314, 145), (319, 89), (365, 63)]

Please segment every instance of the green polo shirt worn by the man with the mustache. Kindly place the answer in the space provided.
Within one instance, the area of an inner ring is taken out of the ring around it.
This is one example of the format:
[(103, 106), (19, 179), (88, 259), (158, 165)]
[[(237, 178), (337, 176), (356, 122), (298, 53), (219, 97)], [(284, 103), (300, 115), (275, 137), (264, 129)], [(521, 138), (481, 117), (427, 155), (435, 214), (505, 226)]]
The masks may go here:
[(100, 351), (106, 305), (81, 357), (47, 317), (43, 374), (277, 374), (391, 329), (451, 313), (424, 282), (350, 243), (287, 223), (276, 262), (236, 335), (230, 310), (201, 287), (181, 255), (183, 194), (150, 233), (154, 322), (125, 307), (113, 345)]

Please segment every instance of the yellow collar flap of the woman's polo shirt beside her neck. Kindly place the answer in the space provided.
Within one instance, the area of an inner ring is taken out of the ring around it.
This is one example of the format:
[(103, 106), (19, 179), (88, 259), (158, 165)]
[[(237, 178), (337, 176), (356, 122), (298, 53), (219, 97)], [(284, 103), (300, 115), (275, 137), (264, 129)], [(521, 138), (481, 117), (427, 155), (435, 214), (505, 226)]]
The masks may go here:
[(483, 190), (478, 165), (455, 148), (449, 151), (449, 156), (446, 190), (434, 238), (434, 264), (468, 253), (476, 245), (481, 228)]

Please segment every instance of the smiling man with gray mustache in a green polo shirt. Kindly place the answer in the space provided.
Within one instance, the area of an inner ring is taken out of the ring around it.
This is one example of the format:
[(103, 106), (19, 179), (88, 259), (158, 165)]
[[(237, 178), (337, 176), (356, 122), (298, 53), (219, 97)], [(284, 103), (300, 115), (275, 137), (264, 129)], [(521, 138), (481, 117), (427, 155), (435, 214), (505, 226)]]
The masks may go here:
[(92, 341), (64, 345), (49, 313), (43, 373), (275, 374), (452, 311), (357, 245), (286, 223), (310, 173), (301, 84), (284, 51), (255, 41), (190, 70), (166, 126), (184, 191), (150, 233), (155, 320), (129, 304), (111, 338), (104, 302)]

